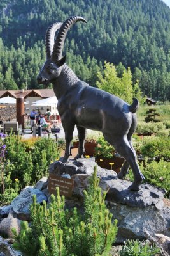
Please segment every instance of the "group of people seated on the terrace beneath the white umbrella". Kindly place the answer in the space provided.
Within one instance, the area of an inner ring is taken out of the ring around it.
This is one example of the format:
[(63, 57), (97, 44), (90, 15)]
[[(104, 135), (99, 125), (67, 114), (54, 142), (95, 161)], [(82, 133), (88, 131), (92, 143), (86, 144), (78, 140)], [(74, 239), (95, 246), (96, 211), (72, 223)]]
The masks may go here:
[(51, 122), (50, 122), (50, 109), (46, 109), (46, 114), (41, 115), (41, 112), (38, 111), (38, 113), (33, 109), (30, 113), (30, 125), (31, 125), (31, 131), (33, 132), (33, 127), (37, 127), (38, 125), (41, 125), (42, 127), (46, 128), (46, 132), (50, 132), (51, 129)]

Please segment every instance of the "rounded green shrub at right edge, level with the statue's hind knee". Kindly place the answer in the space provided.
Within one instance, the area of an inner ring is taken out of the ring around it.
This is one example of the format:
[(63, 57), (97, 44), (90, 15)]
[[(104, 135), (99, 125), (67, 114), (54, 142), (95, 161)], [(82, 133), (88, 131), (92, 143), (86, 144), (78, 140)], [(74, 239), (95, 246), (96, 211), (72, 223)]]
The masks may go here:
[(167, 137), (147, 138), (143, 141), (141, 154), (144, 157), (155, 158), (159, 160), (163, 158), (165, 161), (170, 160), (170, 140)]

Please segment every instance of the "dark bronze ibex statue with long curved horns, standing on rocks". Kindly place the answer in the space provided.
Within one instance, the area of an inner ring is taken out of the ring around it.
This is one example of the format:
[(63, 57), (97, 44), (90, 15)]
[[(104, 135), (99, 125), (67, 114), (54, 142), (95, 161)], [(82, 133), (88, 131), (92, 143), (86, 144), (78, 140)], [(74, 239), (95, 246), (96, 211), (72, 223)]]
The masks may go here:
[[(137, 124), (135, 112), (139, 106), (138, 100), (133, 99), (133, 103), (129, 105), (115, 95), (91, 87), (84, 81), (80, 81), (66, 65), (66, 56), (62, 58), (64, 40), (69, 28), (79, 20), (86, 22), (82, 17), (74, 16), (63, 24), (55, 23), (47, 29), (46, 61), (37, 77), (39, 84), (53, 83), (53, 90), (58, 99), (57, 108), (66, 139), (63, 161), (67, 163), (71, 155), (71, 141), (75, 125), (80, 141), (76, 159), (83, 157), (86, 128), (101, 131), (106, 141), (113, 145), (125, 159), (118, 178), (124, 178), (130, 165), (134, 174), (134, 182), (129, 189), (138, 191), (144, 179), (132, 147), (132, 134)], [(57, 29), (59, 31), (54, 42)]]

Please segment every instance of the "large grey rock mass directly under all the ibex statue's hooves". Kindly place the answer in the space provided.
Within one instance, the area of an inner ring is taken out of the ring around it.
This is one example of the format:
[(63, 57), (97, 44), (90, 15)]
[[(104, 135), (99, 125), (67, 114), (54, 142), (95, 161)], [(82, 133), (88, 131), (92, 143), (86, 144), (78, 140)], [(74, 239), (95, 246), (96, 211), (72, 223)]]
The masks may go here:
[[(61, 175), (68, 173), (74, 179), (73, 197), (67, 205), (74, 207), (83, 202), (83, 190), (89, 186), (89, 176), (94, 172), (95, 161), (77, 159), (64, 164), (60, 161), (50, 165), (50, 173)], [(99, 186), (105, 191), (106, 203), (118, 220), (117, 241), (125, 239), (145, 239), (145, 229), (150, 234), (165, 233), (170, 225), (170, 208), (164, 206), (165, 191), (150, 184), (142, 184), (139, 191), (128, 189), (131, 182), (120, 180), (117, 173), (97, 166)], [(75, 198), (75, 201), (74, 201)], [(75, 205), (74, 205), (75, 202)]]

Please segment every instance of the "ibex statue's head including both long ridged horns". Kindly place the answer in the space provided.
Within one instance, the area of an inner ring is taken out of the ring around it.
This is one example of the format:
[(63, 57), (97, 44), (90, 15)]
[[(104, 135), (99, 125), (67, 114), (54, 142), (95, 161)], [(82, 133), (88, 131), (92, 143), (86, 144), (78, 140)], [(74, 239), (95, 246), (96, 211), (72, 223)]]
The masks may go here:
[[(67, 31), (74, 23), (79, 20), (86, 22), (86, 20), (82, 17), (73, 16), (67, 19), (63, 24), (57, 22), (52, 24), (52, 26), (47, 29), (45, 37), (46, 61), (37, 77), (39, 84), (48, 85), (60, 76), (62, 66), (66, 61), (66, 56), (62, 57), (62, 49), (66, 39)], [(54, 42), (55, 33), (58, 29), (59, 32), (57, 33)]]

